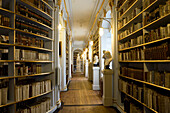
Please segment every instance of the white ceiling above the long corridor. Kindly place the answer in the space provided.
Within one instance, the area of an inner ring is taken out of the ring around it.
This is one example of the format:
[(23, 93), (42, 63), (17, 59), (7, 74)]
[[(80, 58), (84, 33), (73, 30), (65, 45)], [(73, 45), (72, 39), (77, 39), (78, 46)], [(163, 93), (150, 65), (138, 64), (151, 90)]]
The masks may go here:
[(73, 46), (83, 47), (87, 42), (87, 34), (95, 17), (96, 6), (101, 0), (71, 0)]

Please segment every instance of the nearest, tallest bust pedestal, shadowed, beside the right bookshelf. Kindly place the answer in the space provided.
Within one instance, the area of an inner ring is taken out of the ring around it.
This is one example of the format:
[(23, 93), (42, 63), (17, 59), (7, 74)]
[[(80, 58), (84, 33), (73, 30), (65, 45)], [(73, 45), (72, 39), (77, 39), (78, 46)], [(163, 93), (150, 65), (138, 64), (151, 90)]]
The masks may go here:
[(113, 105), (113, 70), (104, 69), (103, 73), (103, 105), (112, 106)]

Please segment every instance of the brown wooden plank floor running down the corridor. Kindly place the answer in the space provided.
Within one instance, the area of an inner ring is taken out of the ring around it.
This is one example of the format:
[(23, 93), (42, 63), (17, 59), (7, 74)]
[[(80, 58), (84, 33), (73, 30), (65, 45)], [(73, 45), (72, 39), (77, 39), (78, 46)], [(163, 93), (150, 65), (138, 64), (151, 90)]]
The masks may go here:
[(59, 113), (117, 113), (104, 107), (99, 91), (92, 90), (92, 83), (81, 74), (74, 74), (67, 92), (61, 92), (63, 106)]

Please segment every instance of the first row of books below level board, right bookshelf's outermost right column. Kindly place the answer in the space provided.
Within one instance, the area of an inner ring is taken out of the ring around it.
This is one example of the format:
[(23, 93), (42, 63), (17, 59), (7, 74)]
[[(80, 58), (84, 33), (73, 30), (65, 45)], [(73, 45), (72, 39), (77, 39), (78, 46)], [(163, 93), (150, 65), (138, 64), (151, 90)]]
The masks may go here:
[(170, 88), (170, 73), (166, 71), (145, 72), (145, 81)]

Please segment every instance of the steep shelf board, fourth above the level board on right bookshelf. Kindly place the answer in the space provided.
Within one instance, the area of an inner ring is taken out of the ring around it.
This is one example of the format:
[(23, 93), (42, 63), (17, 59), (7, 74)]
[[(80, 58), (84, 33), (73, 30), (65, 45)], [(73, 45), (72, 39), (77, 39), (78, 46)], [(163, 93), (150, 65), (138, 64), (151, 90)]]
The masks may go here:
[(130, 13), (134, 8), (136, 8), (138, 5), (142, 5), (141, 0), (136, 0), (120, 17), (118, 20), (122, 19), (123, 17), (126, 17), (128, 13)]

